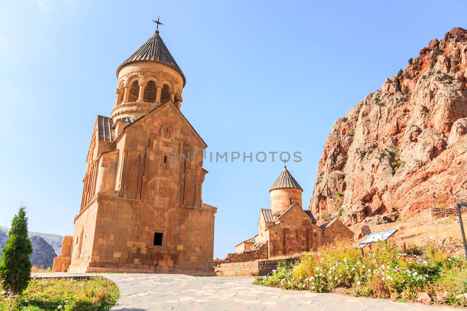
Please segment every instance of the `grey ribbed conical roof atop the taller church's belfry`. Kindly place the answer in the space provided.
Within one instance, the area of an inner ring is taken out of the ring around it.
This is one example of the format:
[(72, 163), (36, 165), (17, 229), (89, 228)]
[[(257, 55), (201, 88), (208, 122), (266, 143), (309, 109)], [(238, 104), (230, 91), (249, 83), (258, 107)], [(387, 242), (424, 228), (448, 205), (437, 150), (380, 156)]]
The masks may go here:
[(133, 55), (128, 57), (128, 59), (119, 66), (117, 73), (124, 65), (138, 61), (153, 61), (168, 65), (177, 70), (183, 76), (183, 85), (186, 83), (182, 69), (178, 67), (177, 62), (175, 62), (173, 56), (170, 54), (169, 49), (165, 46), (158, 30), (156, 30), (154, 35), (152, 35), (148, 41), (138, 48)]

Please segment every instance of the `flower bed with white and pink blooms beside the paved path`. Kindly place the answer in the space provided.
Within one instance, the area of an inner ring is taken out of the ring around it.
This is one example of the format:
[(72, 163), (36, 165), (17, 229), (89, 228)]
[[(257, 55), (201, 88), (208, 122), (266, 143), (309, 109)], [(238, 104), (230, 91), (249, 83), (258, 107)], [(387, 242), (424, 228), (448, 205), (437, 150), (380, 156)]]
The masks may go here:
[(446, 255), (441, 241), (433, 237), (412, 248), (378, 242), (364, 256), (350, 243), (337, 242), (305, 252), (294, 264), (282, 263), (255, 283), (412, 301), (420, 292), (434, 296), (450, 290), (440, 302), (467, 306), (466, 298), (460, 297), (467, 292), (465, 262), (465, 257)]

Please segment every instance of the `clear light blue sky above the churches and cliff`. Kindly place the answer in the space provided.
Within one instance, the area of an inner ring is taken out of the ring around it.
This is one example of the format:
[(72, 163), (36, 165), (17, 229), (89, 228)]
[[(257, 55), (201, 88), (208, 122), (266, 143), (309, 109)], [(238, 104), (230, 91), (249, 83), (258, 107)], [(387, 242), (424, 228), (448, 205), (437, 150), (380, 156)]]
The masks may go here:
[[(301, 152), (287, 167), (308, 207), (334, 121), (433, 38), (467, 28), (467, 3), (439, 1), (2, 1), (0, 225), (19, 204), (29, 228), (71, 235), (96, 115), (115, 70), (161, 36), (187, 84), (182, 112), (212, 152)], [(257, 234), (283, 164), (205, 161), (218, 207), (214, 257)]]

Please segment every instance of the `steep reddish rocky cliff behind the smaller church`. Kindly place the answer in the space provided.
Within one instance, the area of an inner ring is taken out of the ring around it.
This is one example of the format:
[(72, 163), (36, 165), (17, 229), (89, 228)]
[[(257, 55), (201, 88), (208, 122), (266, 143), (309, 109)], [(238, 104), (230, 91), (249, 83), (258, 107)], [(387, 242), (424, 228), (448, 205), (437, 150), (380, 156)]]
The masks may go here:
[(333, 124), (309, 209), (347, 225), (467, 193), (467, 30), (453, 28)]

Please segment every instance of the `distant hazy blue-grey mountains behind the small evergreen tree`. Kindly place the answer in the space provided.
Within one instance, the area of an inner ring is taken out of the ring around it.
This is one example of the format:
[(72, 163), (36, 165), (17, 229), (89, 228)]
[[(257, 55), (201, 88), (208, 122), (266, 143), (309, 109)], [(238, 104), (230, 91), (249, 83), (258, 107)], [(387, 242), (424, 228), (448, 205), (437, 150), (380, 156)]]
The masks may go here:
[[(2, 249), (7, 245), (9, 231), (9, 228), (0, 226), (0, 257), (2, 255)], [(34, 250), (31, 255), (31, 263), (37, 267), (52, 268), (54, 258), (57, 257), (57, 250), (50, 245), (49, 241), (56, 245), (58, 254), (60, 254), (63, 236), (31, 231), (28, 233)], [(60, 241), (59, 244), (58, 241)]]

